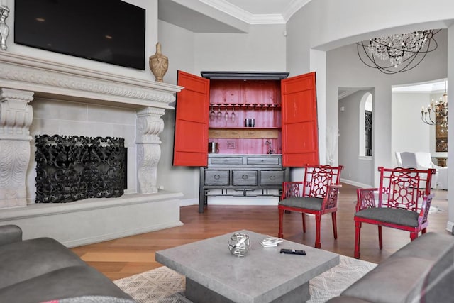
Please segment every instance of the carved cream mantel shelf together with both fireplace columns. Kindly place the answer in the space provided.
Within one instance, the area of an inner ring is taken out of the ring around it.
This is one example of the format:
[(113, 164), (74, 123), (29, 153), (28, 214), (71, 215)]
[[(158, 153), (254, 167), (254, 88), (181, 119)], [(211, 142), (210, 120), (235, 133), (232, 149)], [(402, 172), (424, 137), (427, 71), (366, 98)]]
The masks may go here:
[(0, 52), (0, 209), (26, 206), (29, 128), (35, 97), (136, 111), (136, 172), (139, 194), (157, 192), (161, 116), (183, 87)]

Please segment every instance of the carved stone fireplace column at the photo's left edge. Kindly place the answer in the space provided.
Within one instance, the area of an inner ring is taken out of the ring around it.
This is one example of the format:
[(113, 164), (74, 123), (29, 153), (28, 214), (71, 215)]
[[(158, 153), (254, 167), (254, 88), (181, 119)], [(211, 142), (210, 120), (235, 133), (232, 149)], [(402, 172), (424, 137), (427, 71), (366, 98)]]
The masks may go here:
[(33, 94), (0, 88), (0, 209), (27, 205)]

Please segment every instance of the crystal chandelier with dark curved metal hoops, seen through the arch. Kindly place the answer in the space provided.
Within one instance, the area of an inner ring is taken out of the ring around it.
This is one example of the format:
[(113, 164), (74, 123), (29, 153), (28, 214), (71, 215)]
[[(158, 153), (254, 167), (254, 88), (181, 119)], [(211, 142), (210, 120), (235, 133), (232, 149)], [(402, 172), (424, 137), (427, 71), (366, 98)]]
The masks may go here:
[(414, 31), (412, 33), (373, 38), (358, 42), (360, 60), (368, 67), (384, 74), (397, 74), (412, 70), (426, 55), (436, 50), (438, 43), (433, 35), (441, 30)]

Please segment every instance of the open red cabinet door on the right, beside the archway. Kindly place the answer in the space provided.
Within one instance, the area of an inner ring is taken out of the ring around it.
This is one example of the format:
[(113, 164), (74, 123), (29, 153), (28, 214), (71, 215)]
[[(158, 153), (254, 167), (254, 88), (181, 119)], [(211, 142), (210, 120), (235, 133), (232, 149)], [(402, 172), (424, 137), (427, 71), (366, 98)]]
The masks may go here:
[(282, 166), (319, 164), (315, 72), (281, 80)]

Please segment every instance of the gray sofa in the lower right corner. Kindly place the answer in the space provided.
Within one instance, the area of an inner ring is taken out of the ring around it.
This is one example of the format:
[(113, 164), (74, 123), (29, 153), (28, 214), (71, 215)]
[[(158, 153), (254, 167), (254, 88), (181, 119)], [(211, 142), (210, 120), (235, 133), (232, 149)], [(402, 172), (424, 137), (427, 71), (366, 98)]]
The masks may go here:
[(454, 237), (424, 233), (328, 302), (454, 302)]

